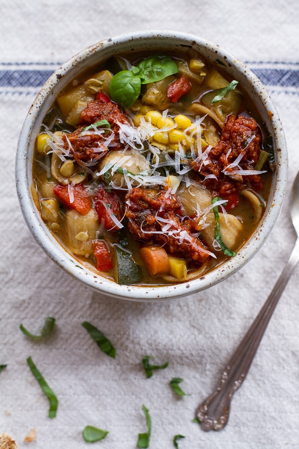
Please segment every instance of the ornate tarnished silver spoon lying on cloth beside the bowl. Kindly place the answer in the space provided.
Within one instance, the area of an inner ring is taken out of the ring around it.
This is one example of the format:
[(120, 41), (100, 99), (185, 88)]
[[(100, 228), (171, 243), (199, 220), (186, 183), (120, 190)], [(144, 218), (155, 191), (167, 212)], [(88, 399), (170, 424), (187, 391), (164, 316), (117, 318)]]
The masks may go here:
[(290, 210), (297, 233), (294, 248), (267, 301), (225, 367), (219, 387), (196, 411), (196, 417), (204, 431), (221, 430), (227, 424), (231, 398), (248, 373), (272, 313), (299, 261), (299, 173), (292, 188)]

